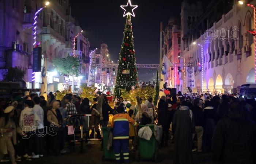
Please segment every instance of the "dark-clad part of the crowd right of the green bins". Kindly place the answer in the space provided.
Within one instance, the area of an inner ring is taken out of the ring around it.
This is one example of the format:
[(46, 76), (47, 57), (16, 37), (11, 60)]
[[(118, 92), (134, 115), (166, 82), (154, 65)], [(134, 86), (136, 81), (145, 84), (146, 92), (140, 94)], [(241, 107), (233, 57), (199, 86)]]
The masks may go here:
[(158, 104), (166, 145), (168, 130), (173, 134), (174, 164), (193, 163), (193, 152), (212, 152), (213, 161), (221, 164), (255, 163), (255, 121), (254, 99), (237, 94), (189, 97), (178, 92), (162, 96)]

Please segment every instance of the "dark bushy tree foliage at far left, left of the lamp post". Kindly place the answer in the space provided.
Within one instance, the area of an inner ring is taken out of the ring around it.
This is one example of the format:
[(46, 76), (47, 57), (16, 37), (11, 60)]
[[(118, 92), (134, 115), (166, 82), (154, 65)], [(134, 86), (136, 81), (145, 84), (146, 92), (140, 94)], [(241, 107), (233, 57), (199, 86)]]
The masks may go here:
[(5, 81), (18, 82), (23, 79), (25, 71), (18, 67), (9, 67), (8, 72), (5, 74)]

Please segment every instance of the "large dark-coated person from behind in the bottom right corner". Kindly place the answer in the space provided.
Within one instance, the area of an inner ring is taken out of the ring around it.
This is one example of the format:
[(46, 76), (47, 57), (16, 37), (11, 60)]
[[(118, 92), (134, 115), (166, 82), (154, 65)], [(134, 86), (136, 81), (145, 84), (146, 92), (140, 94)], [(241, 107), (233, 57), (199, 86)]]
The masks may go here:
[(228, 116), (215, 128), (213, 160), (220, 164), (255, 163), (255, 135), (255, 125), (248, 119), (241, 102), (231, 102)]

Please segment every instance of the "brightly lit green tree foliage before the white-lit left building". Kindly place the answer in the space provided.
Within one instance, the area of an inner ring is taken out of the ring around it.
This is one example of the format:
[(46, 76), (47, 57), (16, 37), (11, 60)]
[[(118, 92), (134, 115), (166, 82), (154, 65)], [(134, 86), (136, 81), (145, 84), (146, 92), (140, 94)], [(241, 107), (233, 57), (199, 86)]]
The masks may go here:
[(56, 58), (53, 60), (53, 66), (62, 75), (79, 75), (80, 63), (77, 57)]

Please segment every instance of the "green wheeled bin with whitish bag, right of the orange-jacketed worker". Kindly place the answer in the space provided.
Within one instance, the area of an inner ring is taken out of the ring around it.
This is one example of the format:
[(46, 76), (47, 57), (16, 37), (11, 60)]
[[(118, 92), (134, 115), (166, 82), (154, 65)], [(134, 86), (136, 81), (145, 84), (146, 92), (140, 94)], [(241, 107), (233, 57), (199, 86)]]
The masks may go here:
[(155, 162), (159, 162), (159, 144), (155, 139), (154, 135), (154, 125), (139, 125), (139, 129), (148, 126), (153, 134), (150, 140), (145, 140), (143, 138), (139, 138), (139, 151), (136, 154), (136, 160), (154, 160)]

